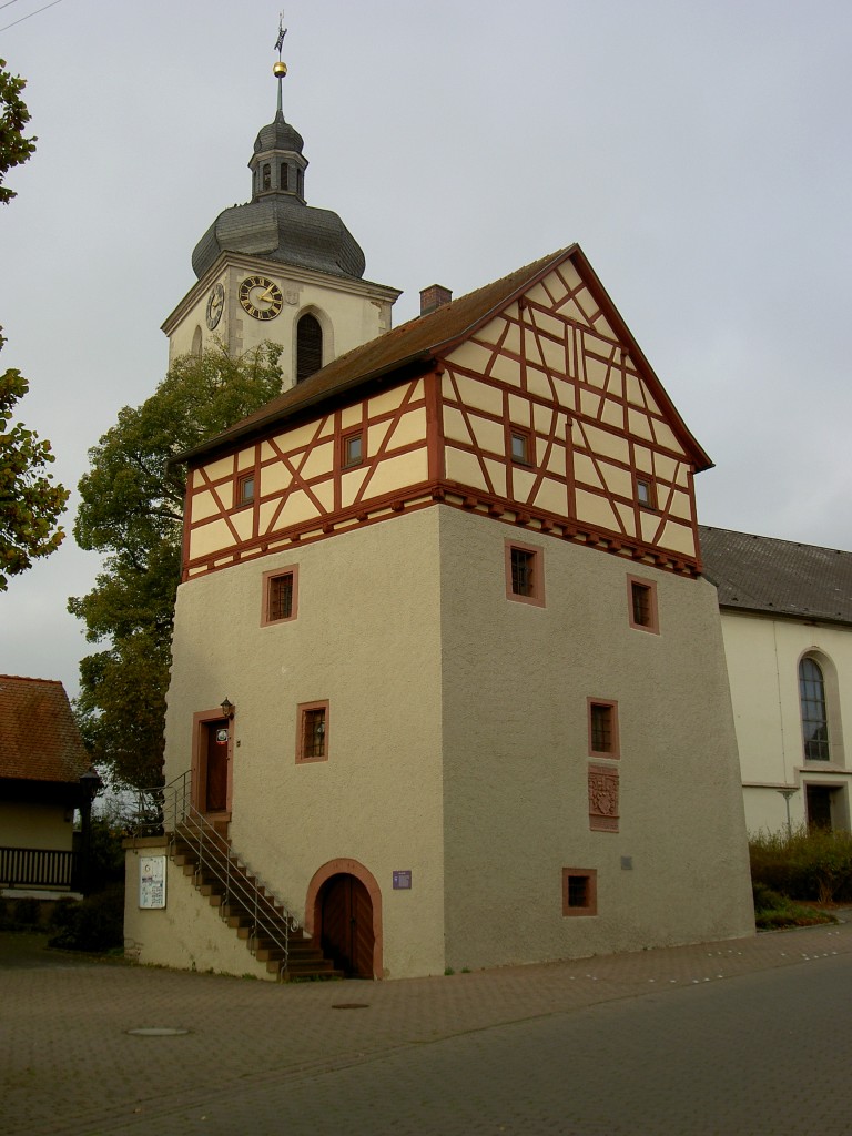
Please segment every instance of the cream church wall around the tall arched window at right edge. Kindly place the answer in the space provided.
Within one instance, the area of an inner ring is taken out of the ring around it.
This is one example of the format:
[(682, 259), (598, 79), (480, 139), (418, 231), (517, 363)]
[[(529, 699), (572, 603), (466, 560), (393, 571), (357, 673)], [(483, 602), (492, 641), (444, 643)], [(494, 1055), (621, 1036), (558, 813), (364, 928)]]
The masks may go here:
[[(852, 720), (852, 629), (729, 609), (722, 611), (721, 626), (749, 830), (786, 825), (786, 805), (778, 792), (785, 786), (797, 790), (790, 801), (791, 822), (803, 824), (803, 785), (849, 793), (843, 725)], [(805, 654), (815, 654), (826, 682), (828, 762), (804, 760), (799, 662)]]

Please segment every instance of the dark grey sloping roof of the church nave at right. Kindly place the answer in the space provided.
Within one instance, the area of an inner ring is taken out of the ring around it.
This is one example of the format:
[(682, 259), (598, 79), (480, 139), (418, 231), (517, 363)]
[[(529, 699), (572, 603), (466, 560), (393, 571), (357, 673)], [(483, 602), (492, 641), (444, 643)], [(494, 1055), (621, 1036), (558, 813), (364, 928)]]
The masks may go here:
[(852, 552), (699, 526), (719, 607), (852, 624)]

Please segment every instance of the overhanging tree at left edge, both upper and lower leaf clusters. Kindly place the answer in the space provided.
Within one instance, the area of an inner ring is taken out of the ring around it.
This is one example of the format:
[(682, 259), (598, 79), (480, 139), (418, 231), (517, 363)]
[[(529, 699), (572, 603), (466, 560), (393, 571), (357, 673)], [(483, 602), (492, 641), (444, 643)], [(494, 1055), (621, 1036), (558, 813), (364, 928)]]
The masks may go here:
[[(0, 203), (7, 204), (15, 192), (3, 178), (35, 150), (35, 139), (24, 137), (30, 122), (20, 92), (23, 78), (6, 70), (0, 59)], [(0, 335), (0, 350), (6, 340)], [(9, 576), (25, 571), (37, 557), (47, 557), (59, 546), (62, 529), (57, 526), (68, 493), (52, 483), (45, 467), (53, 461), (50, 442), (22, 423), (12, 421), (15, 403), (28, 384), (18, 370), (0, 374), (0, 592)]]

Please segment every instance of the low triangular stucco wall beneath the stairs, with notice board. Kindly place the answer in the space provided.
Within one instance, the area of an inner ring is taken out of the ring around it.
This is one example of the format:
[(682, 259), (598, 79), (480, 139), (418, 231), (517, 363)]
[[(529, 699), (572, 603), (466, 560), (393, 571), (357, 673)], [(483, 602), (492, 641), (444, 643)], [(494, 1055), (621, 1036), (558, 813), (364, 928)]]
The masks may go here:
[(124, 949), (128, 958), (179, 970), (212, 970), (225, 975), (250, 975), (275, 982), (266, 963), (258, 962), (245, 941), (223, 922), (217, 910), (184, 876), (166, 862), (166, 907), (139, 907), (140, 855), (166, 855), (160, 846), (143, 841), (125, 853)]

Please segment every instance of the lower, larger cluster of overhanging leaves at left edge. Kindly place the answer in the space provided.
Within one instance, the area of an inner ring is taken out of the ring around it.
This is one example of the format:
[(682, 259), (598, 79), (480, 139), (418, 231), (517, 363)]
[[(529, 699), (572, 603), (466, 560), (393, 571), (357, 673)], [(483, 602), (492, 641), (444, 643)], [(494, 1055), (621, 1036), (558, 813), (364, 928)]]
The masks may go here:
[[(5, 342), (0, 335), (0, 350)], [(68, 491), (45, 471), (53, 461), (50, 442), (12, 421), (15, 403), (27, 390), (20, 371), (0, 374), (0, 592), (9, 576), (49, 556), (65, 536), (57, 521)]]

